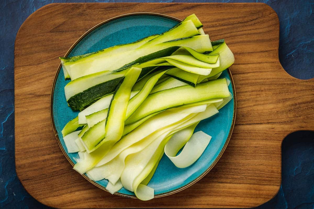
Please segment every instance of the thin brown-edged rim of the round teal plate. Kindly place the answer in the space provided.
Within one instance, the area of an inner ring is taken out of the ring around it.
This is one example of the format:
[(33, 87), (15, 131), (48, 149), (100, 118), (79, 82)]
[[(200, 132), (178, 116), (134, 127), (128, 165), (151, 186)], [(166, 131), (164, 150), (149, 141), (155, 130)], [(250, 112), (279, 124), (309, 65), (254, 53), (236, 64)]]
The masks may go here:
[[(152, 15), (152, 16), (161, 16), (161, 17), (165, 17), (165, 18), (170, 18), (170, 19), (173, 19), (173, 20), (176, 20), (178, 22), (181, 22), (182, 20), (179, 19), (179, 18), (176, 18), (176, 17), (173, 17), (173, 16), (170, 16), (170, 15), (167, 15), (167, 14), (162, 14), (162, 13), (152, 13), (152, 12), (136, 12), (136, 13), (126, 13), (126, 14), (122, 14), (122, 15), (118, 15), (118, 16), (115, 16), (115, 17), (112, 17), (112, 18), (109, 18), (109, 19), (106, 19), (102, 22), (100, 22), (99, 24), (96, 24), (94, 27), (90, 28), (88, 31), (86, 31), (82, 36), (80, 36), (75, 42), (74, 44), (69, 48), (69, 50), (66, 52), (66, 54), (64, 55), (64, 57), (68, 56), (70, 54), (70, 52), (73, 50), (73, 48), (86, 36), (88, 35), (90, 32), (92, 32), (93, 30), (97, 29), (98, 27), (100, 27), (101, 25), (103, 24), (106, 24), (112, 20), (115, 20), (115, 19), (118, 19), (118, 18), (122, 18), (122, 17), (127, 17), (127, 16), (133, 16), (133, 15)], [(52, 129), (53, 129), (53, 132), (54, 132), (54, 135), (55, 135), (55, 138), (57, 140), (57, 143), (63, 153), (63, 155), (66, 157), (66, 159), (69, 161), (69, 163), (74, 166), (75, 164), (72, 162), (72, 160), (69, 158), (68, 154), (66, 153), (66, 151), (64, 150), (61, 142), (60, 142), (60, 139), (59, 139), (59, 136), (58, 136), (58, 133), (57, 133), (57, 129), (55, 127), (55, 123), (54, 123), (54, 117), (53, 117), (53, 94), (54, 94), (54, 89), (55, 89), (55, 86), (56, 86), (56, 82), (57, 82), (57, 77), (59, 75), (59, 72), (61, 70), (61, 67), (62, 67), (62, 64), (60, 62), (58, 68), (57, 68), (57, 71), (55, 73), (55, 76), (53, 78), (53, 82), (52, 82), (52, 86), (51, 86), (51, 92), (50, 92), (50, 120), (51, 120), (51, 125), (52, 125)], [(214, 160), (214, 162), (201, 174), (199, 175), (197, 178), (195, 178), (194, 180), (192, 180), (190, 183), (186, 184), (186, 185), (183, 185), (175, 190), (172, 190), (172, 191), (168, 191), (168, 192), (164, 192), (164, 193), (161, 193), (161, 194), (158, 194), (158, 195), (154, 195), (154, 198), (158, 198), (158, 197), (164, 197), (164, 196), (168, 196), (168, 195), (172, 195), (172, 194), (175, 194), (179, 191), (182, 191), (188, 187), (190, 187), (191, 185), (195, 184), (196, 182), (198, 182), (199, 180), (201, 180), (206, 174), (208, 174), (208, 172), (210, 170), (213, 169), (213, 167), (217, 164), (217, 162), (219, 161), (219, 159), (221, 158), (222, 154), (225, 152), (225, 149), (227, 148), (227, 145), (229, 144), (229, 141), (230, 141), (230, 138), (231, 138), (231, 135), (233, 133), (233, 129), (234, 129), (234, 126), (235, 126), (235, 121), (236, 121), (236, 86), (234, 84), (234, 80), (233, 80), (233, 77), (232, 77), (232, 74), (231, 74), (231, 71), (229, 68), (227, 68), (227, 71), (228, 71), (228, 74), (229, 74), (229, 77), (230, 77), (230, 81), (231, 81), (231, 85), (232, 85), (232, 91), (233, 91), (233, 102), (234, 102), (234, 108), (233, 108), (233, 116), (232, 116), (232, 123), (231, 123), (231, 127), (230, 127), (230, 131), (229, 131), (229, 134), (228, 134), (228, 137), (227, 137), (227, 140), (223, 146), (223, 148), (220, 150), (218, 156), (216, 157), (216, 159)], [(88, 180), (90, 183), (92, 183), (93, 185), (97, 186), (98, 188), (104, 190), (104, 191), (107, 191), (105, 187), (101, 186), (100, 184), (96, 183), (95, 181), (89, 179), (86, 175), (84, 174), (81, 174), (86, 180)], [(107, 191), (108, 192), (108, 191)], [(137, 197), (135, 195), (127, 195), (127, 194), (123, 194), (123, 193), (120, 193), (120, 192), (115, 192), (114, 193), (115, 195), (118, 195), (118, 196), (123, 196), (123, 197), (129, 197), (129, 198), (134, 198), (134, 199), (137, 199)]]

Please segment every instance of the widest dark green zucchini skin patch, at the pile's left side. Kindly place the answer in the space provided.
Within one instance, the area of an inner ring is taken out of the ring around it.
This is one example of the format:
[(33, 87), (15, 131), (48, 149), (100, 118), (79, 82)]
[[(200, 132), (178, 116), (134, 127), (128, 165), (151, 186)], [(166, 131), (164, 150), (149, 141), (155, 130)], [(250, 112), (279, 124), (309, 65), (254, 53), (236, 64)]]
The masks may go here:
[(92, 86), (83, 92), (80, 92), (68, 100), (68, 104), (73, 111), (82, 111), (85, 106), (94, 102), (96, 99), (103, 97), (115, 91), (118, 83), (123, 79), (122, 77), (115, 78), (104, 83)]

